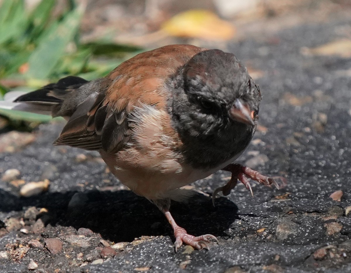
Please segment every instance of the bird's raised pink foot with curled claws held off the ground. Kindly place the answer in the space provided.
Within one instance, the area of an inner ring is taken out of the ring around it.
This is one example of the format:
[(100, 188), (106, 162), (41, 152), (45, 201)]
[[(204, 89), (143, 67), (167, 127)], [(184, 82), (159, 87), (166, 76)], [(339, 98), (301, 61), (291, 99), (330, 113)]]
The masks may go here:
[(229, 180), (229, 182), (224, 185), (223, 187), (217, 188), (212, 195), (212, 203), (214, 205), (214, 199), (216, 199), (216, 195), (219, 192), (223, 192), (223, 195), (228, 195), (233, 189), (237, 183), (238, 180), (245, 185), (247, 189), (249, 189), (251, 195), (253, 196), (252, 188), (250, 185), (250, 181), (247, 178), (250, 178), (252, 180), (255, 180), (263, 185), (274, 185), (276, 186), (277, 189), (282, 188), (285, 184), (285, 179), (280, 177), (280, 179), (283, 181), (283, 185), (279, 186), (277, 181), (274, 180), (272, 177), (265, 176), (263, 174), (260, 174), (258, 171), (255, 171), (249, 167), (245, 167), (240, 164), (229, 164), (228, 166), (224, 167), (222, 169), (223, 171), (229, 171), (232, 173), (232, 177)]

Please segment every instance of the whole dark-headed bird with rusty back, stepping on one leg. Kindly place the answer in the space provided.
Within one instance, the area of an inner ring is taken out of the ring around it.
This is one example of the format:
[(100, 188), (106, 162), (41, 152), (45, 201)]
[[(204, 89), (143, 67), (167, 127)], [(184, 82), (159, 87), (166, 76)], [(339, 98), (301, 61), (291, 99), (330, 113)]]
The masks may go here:
[(135, 55), (103, 78), (66, 76), (19, 96), (14, 109), (64, 117), (54, 145), (98, 151), (121, 183), (163, 212), (177, 251), (183, 244), (209, 249), (218, 242), (212, 234), (188, 234), (172, 217), (171, 200), (192, 195), (188, 184), (218, 170), (231, 172), (213, 202), (238, 181), (251, 194), (250, 179), (280, 187), (234, 162), (256, 131), (261, 99), (234, 54), (167, 45)]

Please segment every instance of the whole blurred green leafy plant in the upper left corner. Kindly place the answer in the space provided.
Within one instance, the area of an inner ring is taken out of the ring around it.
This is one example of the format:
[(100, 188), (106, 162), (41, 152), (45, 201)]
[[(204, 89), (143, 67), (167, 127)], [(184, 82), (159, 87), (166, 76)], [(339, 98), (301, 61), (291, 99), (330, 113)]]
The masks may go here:
[[(87, 80), (105, 76), (124, 60), (126, 53), (141, 51), (108, 40), (82, 44), (79, 26), (84, 6), (71, 0), (64, 11), (52, 18), (55, 2), (42, 0), (29, 13), (24, 0), (2, 1), (0, 99), (9, 91), (8, 87), (34, 89), (66, 75), (79, 75)], [(0, 115), (23, 120), (27, 117), (1, 109)]]

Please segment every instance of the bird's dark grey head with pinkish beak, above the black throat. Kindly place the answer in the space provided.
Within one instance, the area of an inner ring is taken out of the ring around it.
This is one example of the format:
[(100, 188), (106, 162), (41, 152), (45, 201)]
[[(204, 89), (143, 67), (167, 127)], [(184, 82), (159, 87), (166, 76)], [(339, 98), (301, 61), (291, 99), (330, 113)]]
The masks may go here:
[(257, 123), (260, 91), (235, 55), (219, 49), (200, 52), (184, 66), (183, 80), (200, 120)]

